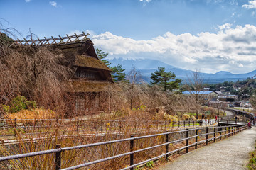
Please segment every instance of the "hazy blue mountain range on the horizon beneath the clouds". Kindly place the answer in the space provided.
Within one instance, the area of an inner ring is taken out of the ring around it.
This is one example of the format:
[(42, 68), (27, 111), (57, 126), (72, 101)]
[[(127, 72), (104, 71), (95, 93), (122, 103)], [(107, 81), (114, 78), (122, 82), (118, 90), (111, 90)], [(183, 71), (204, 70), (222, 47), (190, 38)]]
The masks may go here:
[[(150, 82), (151, 73), (156, 71), (158, 67), (165, 67), (167, 72), (174, 72), (176, 74), (177, 79), (182, 79), (183, 82), (188, 80), (188, 77), (191, 77), (193, 71), (188, 69), (180, 69), (178, 67), (174, 67), (172, 65), (166, 64), (159, 60), (124, 60), (122, 58), (110, 60), (111, 67), (114, 67), (117, 64), (122, 64), (122, 68), (126, 69), (125, 73), (128, 74), (129, 71), (134, 66), (137, 71), (141, 72), (142, 78), (146, 82)], [(222, 83), (224, 81), (238, 81), (247, 79), (247, 77), (253, 77), (256, 74), (256, 70), (243, 74), (233, 74), (226, 71), (216, 72), (215, 74), (208, 74), (201, 72), (201, 76), (204, 81), (208, 84)]]

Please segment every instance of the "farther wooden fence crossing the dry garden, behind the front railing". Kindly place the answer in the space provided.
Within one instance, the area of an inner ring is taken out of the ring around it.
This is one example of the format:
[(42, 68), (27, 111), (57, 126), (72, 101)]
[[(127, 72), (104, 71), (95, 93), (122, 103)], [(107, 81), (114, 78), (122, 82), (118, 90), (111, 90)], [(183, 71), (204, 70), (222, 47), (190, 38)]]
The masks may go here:
[[(33, 130), (33, 134), (44, 134), (43, 130), (58, 124), (58, 127), (68, 127), (70, 132), (77, 134), (100, 133), (100, 132), (122, 132), (129, 130), (131, 132), (146, 131), (149, 128), (154, 130), (170, 130), (182, 127), (208, 126), (215, 123), (245, 124), (245, 121), (235, 120), (231, 118), (203, 119), (203, 120), (83, 120), (83, 119), (0, 119), (0, 137), (16, 137), (17, 130), (23, 130), (24, 134), (29, 134)], [(65, 132), (68, 132), (66, 130)]]

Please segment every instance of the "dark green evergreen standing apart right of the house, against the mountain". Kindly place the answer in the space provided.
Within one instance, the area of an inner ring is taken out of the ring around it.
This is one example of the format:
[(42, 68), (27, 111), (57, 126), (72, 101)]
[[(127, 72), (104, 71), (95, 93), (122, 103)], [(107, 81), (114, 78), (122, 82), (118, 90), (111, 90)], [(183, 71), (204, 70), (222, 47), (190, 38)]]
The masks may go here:
[[(178, 89), (178, 85), (181, 83), (181, 79), (175, 79), (176, 75), (173, 72), (166, 72), (164, 67), (158, 67), (154, 73), (151, 73), (151, 84), (158, 84), (164, 88), (164, 91), (169, 89)], [(171, 81), (171, 79), (175, 79)]]

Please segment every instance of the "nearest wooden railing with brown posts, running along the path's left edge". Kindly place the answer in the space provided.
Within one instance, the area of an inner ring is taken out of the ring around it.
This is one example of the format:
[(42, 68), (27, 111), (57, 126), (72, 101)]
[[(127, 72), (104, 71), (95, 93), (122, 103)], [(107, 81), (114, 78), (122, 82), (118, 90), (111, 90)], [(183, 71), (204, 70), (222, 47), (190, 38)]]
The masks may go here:
[[(210, 126), (210, 127), (196, 127), (196, 128), (187, 128), (186, 130), (178, 130), (178, 131), (166, 131), (159, 134), (154, 135), (144, 135), (144, 136), (138, 136), (134, 137), (134, 135), (131, 135), (129, 138), (120, 139), (120, 140), (110, 140), (106, 142), (97, 142), (92, 144), (86, 144), (86, 145), (78, 145), (73, 147), (60, 147), (60, 145), (56, 145), (56, 149), (49, 149), (49, 150), (43, 150), (39, 152), (31, 152), (26, 154), (16, 154), (16, 155), (10, 155), (6, 157), (0, 157), (0, 162), (8, 162), (14, 159), (23, 159), (27, 157), (36, 157), (38, 155), (42, 154), (55, 154), (55, 169), (61, 169), (62, 163), (67, 161), (62, 159), (62, 153), (68, 152), (70, 150), (74, 149), (84, 149), (84, 148), (90, 148), (90, 147), (99, 147), (102, 145), (111, 145), (114, 143), (121, 143), (121, 142), (129, 142), (130, 149), (129, 152), (124, 152), (120, 154), (113, 155), (111, 157), (105, 157), (102, 159), (93, 160), (90, 162), (85, 162), (83, 164), (78, 164), (75, 166), (65, 167), (64, 169), (78, 169), (85, 166), (90, 166), (93, 164), (98, 164), (100, 162), (107, 162), (112, 159), (117, 159), (119, 157), (127, 157), (129, 156), (129, 163), (127, 162), (126, 167), (120, 166), (119, 169), (131, 169), (133, 170), (135, 167), (146, 164), (146, 162), (154, 161), (156, 159), (160, 159), (165, 157), (168, 159), (168, 157), (171, 154), (175, 154), (177, 152), (181, 152), (183, 150), (186, 150), (186, 153), (188, 153), (188, 149), (191, 147), (194, 147), (194, 149), (198, 148), (198, 145), (206, 144), (208, 145), (209, 142), (215, 142), (216, 140), (222, 140), (223, 138), (230, 137), (232, 135), (237, 134), (238, 132), (242, 132), (242, 130), (247, 129), (246, 125), (231, 125), (231, 126)], [(171, 136), (178, 135), (178, 139), (171, 140)], [(137, 142), (142, 139), (146, 139), (146, 141), (150, 142), (154, 137), (164, 137), (165, 140), (161, 144), (158, 145), (151, 145), (149, 147), (145, 148), (136, 148)], [(183, 143), (184, 142), (184, 143)], [(169, 150), (170, 145), (172, 144), (183, 144), (183, 146), (179, 147), (178, 149)], [(134, 162), (134, 158), (136, 157), (137, 153), (144, 152), (146, 150), (154, 149), (154, 148), (160, 148), (165, 147), (165, 149), (160, 155), (154, 155), (154, 157), (150, 159), (146, 159), (142, 162)], [(117, 149), (117, 148), (116, 148)]]

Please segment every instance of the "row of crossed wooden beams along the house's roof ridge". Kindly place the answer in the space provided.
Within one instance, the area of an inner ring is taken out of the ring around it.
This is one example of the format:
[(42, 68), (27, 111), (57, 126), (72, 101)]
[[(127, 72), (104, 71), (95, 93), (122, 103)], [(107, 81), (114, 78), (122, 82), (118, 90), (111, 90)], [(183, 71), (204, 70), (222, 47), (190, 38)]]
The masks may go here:
[(87, 36), (90, 34), (85, 34), (85, 32), (82, 32), (82, 34), (77, 35), (66, 35), (65, 37), (61, 37), (59, 35), (58, 38), (43, 38), (36, 40), (26, 40), (25, 38), (23, 40), (17, 39), (11, 46), (17, 47), (19, 45), (34, 45), (34, 46), (41, 46), (41, 45), (65, 45), (65, 44), (73, 44), (76, 42), (82, 42), (84, 40), (87, 40)]

